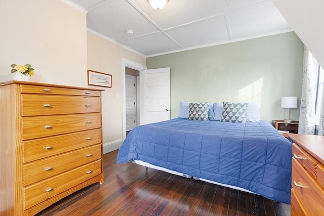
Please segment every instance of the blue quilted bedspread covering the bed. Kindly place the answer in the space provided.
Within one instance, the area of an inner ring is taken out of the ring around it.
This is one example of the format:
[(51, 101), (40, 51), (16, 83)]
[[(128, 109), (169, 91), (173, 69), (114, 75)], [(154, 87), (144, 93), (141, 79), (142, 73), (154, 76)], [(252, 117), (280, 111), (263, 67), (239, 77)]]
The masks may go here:
[(290, 203), (292, 144), (267, 121), (175, 118), (134, 128), (117, 163), (141, 160)]

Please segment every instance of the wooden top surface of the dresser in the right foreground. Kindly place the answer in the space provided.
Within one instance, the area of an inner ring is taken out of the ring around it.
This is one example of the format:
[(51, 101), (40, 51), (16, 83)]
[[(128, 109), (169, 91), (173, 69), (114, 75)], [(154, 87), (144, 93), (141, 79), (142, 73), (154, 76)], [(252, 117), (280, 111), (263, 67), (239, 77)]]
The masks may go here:
[(324, 164), (324, 136), (288, 134), (288, 137)]

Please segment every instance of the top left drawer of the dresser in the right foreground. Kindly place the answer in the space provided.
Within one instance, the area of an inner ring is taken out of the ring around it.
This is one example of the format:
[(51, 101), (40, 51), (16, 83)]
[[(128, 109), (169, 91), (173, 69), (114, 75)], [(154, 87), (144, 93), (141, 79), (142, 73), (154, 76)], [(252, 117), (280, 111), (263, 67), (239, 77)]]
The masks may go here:
[(300, 148), (296, 143), (293, 144), (293, 155), (294, 158), (305, 167), (309, 174), (316, 179), (315, 167), (318, 163), (317, 160)]

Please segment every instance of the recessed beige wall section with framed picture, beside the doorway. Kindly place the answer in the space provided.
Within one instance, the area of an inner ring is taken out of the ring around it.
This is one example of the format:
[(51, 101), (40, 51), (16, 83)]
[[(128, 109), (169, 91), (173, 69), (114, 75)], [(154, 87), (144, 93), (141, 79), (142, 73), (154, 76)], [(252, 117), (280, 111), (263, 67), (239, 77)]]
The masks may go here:
[(102, 88), (104, 145), (121, 144), (123, 138), (122, 58), (146, 65), (145, 57), (88, 32), (88, 69), (112, 75), (112, 88)]

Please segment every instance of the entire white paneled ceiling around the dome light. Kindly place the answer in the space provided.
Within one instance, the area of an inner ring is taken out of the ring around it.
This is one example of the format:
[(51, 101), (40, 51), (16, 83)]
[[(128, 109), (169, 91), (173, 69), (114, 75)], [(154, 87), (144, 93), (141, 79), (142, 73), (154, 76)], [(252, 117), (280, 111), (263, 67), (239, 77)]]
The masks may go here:
[(170, 0), (159, 11), (147, 0), (66, 1), (88, 11), (89, 29), (143, 55), (291, 30), (270, 0)]

